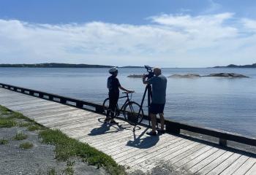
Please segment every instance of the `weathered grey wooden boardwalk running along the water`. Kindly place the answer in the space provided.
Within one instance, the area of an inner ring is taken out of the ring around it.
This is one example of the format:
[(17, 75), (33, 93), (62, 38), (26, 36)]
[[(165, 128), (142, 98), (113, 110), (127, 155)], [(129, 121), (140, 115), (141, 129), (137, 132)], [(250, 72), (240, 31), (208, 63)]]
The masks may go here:
[[(189, 174), (256, 175), (256, 159), (213, 144), (163, 134), (147, 136), (145, 127), (135, 133), (124, 121), (103, 124), (105, 116), (42, 98), (0, 88), (0, 104), (48, 128), (90, 144), (110, 155), (129, 171), (151, 171), (156, 166)], [(181, 174), (186, 174), (181, 173)]]

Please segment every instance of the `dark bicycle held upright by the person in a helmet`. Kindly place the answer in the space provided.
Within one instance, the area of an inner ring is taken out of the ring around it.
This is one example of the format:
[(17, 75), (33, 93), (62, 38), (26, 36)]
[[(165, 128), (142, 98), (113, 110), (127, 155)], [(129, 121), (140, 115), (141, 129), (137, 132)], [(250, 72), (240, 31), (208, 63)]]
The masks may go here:
[[(124, 104), (121, 106), (121, 109), (118, 108), (118, 104), (116, 104), (116, 110), (114, 112), (114, 117), (117, 117), (122, 114), (124, 115), (124, 119), (130, 124), (130, 125), (138, 125), (142, 122), (144, 112), (142, 109), (142, 106), (140, 106), (135, 101), (131, 101), (132, 99), (132, 93), (131, 97), (129, 98), (129, 93), (123, 92), (123, 94), (126, 94), (126, 96), (121, 96), (120, 98), (127, 98), (127, 100), (124, 102)], [(109, 98), (106, 98), (103, 102), (103, 109), (105, 114), (107, 114), (109, 106)], [(133, 129), (135, 131), (135, 128)]]

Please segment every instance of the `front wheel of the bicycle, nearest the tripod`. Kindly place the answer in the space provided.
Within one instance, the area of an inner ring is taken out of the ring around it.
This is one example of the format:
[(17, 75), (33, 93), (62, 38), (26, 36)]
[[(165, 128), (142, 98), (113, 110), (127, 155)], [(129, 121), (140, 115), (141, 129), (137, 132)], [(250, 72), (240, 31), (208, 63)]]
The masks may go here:
[(134, 101), (124, 106), (124, 118), (131, 125), (138, 125), (143, 120), (143, 109)]

